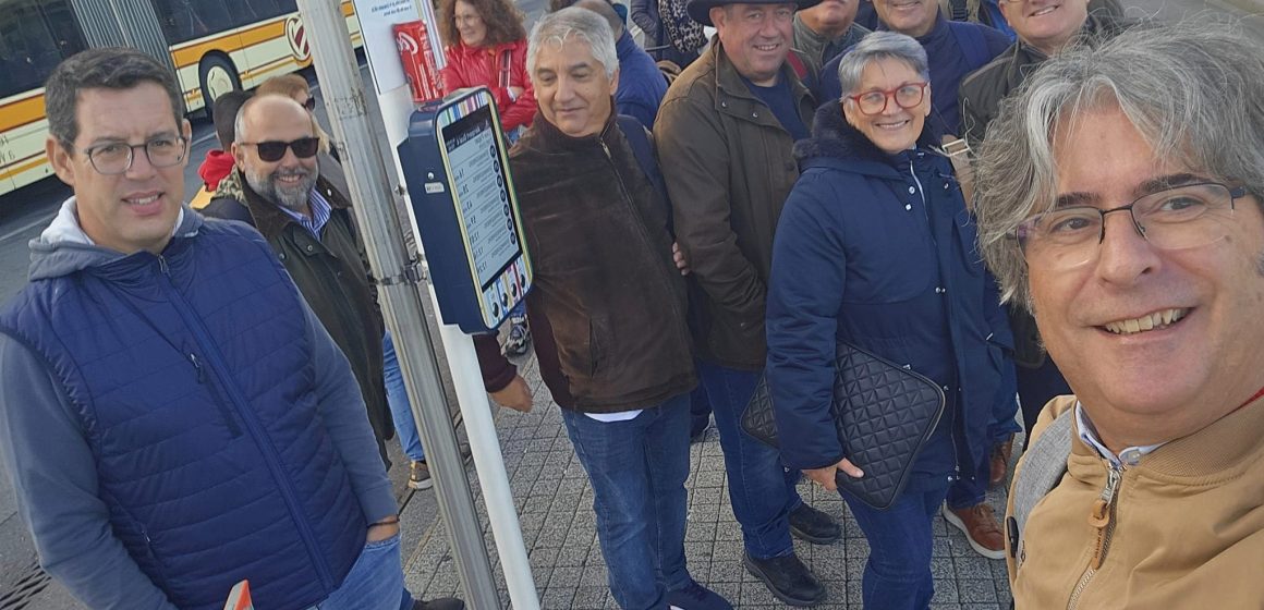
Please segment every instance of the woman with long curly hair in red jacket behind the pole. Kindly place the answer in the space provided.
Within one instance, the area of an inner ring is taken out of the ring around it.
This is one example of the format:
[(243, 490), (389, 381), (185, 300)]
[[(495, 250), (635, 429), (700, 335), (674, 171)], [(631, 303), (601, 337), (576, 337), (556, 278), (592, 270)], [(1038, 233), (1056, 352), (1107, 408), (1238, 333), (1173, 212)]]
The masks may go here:
[(447, 45), (444, 93), (487, 86), (511, 138), (518, 128), (531, 126), (536, 114), (522, 19), (509, 0), (444, 0), (439, 10), (439, 32)]

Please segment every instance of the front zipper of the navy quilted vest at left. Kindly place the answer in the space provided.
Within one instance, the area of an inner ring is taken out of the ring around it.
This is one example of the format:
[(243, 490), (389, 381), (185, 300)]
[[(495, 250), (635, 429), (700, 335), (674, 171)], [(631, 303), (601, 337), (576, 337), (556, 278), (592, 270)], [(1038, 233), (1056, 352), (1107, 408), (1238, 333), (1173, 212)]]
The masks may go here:
[[(206, 328), (202, 326), (201, 321), (191, 316), (187, 308), (185, 297), (179, 294), (176, 289), (174, 282), (171, 279), (171, 268), (167, 265), (167, 259), (158, 255), (158, 268), (162, 270), (162, 277), (166, 280), (163, 288), (168, 292), (172, 304), (176, 307), (177, 313), (185, 321), (185, 325), (193, 333), (193, 340), (197, 342), (198, 347), (207, 356), (207, 365), (211, 368), (211, 374), (217, 375), (220, 379), (228, 379), (224, 373), (228, 366), (220, 360), (219, 352), (212, 347), (211, 340), (207, 336)], [(198, 369), (201, 370), (201, 369)], [(224, 389), (229, 394), (230, 404), (236, 408), (238, 416), (241, 422), (245, 423), (246, 429), (254, 438), (255, 446), (259, 447), (259, 453), (263, 455), (264, 462), (268, 465), (268, 470), (272, 472), (273, 479), (277, 482), (277, 489), (281, 491), (281, 496), (289, 509), (291, 519), (295, 522), (295, 528), (298, 530), (300, 538), (302, 538), (303, 544), (307, 547), (308, 558), (312, 566), (316, 568), (316, 575), (321, 580), (321, 585), (326, 591), (334, 589), (334, 576), (330, 573), (330, 567), (325, 559), (325, 554), (321, 552), (320, 546), (316, 543), (316, 534), (311, 530), (311, 524), (305, 519), (303, 510), (298, 504), (298, 499), (295, 498), (295, 490), (289, 484), (289, 477), (281, 469), (281, 458), (277, 456), (277, 448), (272, 445), (272, 440), (267, 437), (263, 432), (263, 426), (254, 417), (254, 412), (246, 408), (245, 397), (240, 394), (234, 384), (224, 384)]]

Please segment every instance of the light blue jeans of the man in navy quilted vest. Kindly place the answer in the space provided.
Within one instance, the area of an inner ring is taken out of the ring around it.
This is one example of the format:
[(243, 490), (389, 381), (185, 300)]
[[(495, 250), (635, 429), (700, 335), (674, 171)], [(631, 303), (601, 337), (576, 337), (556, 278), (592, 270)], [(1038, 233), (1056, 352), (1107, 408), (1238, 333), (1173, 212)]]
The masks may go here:
[(364, 546), (343, 585), (316, 610), (404, 610), (412, 607), (412, 595), (403, 587), (399, 559), (399, 534)]

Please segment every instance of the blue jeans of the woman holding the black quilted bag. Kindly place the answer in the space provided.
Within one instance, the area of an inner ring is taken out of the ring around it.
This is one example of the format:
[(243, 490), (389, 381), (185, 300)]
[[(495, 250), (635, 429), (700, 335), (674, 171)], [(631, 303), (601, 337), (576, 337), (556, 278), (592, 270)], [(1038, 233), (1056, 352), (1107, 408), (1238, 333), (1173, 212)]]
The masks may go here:
[(939, 514), (948, 481), (905, 491), (887, 510), (876, 510), (842, 494), (870, 544), (861, 583), (866, 609), (923, 610), (935, 594), (930, 576), (934, 547), (930, 524)]

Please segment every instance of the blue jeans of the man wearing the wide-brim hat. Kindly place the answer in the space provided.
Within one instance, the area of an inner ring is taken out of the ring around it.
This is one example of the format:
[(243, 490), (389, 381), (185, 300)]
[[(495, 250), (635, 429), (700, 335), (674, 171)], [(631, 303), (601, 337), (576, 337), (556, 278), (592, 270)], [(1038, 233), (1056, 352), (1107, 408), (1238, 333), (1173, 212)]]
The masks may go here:
[(795, 489), (799, 471), (782, 467), (777, 450), (742, 431), (742, 412), (755, 395), (760, 373), (699, 361), (698, 374), (715, 413), (728, 499), (742, 525), (746, 552), (757, 559), (793, 553), (790, 511), (803, 504)]

